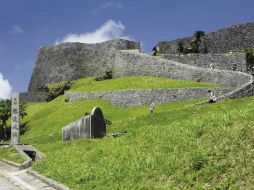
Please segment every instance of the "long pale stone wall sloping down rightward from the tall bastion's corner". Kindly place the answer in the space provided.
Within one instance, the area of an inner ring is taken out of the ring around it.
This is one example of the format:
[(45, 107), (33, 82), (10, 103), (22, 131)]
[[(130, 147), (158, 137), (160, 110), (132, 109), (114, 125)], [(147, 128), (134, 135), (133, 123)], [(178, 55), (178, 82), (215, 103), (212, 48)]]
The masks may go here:
[(218, 69), (208, 69), (144, 55), (134, 51), (119, 51), (115, 57), (114, 77), (158, 76), (193, 80), (237, 87), (248, 82), (250, 75)]

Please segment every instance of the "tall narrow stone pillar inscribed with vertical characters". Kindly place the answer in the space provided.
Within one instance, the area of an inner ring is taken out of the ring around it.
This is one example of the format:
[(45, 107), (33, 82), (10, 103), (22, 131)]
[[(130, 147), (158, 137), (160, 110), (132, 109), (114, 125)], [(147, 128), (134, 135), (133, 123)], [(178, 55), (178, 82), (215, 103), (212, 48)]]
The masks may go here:
[(11, 143), (19, 144), (19, 93), (11, 97)]

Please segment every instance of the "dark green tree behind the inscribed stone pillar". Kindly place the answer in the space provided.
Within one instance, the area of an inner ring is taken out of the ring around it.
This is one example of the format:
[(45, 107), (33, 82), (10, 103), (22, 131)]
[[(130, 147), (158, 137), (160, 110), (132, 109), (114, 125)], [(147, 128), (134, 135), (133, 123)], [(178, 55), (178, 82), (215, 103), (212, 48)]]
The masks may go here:
[[(25, 104), (20, 104), (20, 116), (23, 118), (27, 113), (25, 111)], [(11, 100), (0, 99), (0, 139), (6, 139), (7, 121), (11, 117)]]

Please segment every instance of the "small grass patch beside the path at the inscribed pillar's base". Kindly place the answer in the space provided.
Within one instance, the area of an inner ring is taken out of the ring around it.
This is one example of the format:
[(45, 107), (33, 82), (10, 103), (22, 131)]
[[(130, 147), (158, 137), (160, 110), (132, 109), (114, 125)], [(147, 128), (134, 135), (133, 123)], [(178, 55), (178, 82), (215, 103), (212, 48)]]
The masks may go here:
[(25, 159), (22, 158), (22, 156), (13, 147), (0, 149), (0, 158), (3, 158), (5, 160), (10, 160), (16, 163), (23, 163), (25, 161)]

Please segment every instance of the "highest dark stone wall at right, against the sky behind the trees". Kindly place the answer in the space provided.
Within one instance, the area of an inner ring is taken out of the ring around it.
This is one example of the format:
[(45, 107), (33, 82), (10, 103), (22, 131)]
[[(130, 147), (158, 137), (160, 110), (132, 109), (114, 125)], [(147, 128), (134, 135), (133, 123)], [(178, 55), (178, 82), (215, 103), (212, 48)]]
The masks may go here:
[[(194, 31), (193, 31), (194, 33)], [(189, 44), (192, 37), (177, 39), (174, 41), (159, 42), (160, 53), (177, 53), (177, 42)], [(209, 53), (222, 53), (237, 51), (246, 48), (254, 48), (254, 23), (233, 25), (221, 30), (206, 34), (206, 44)]]

